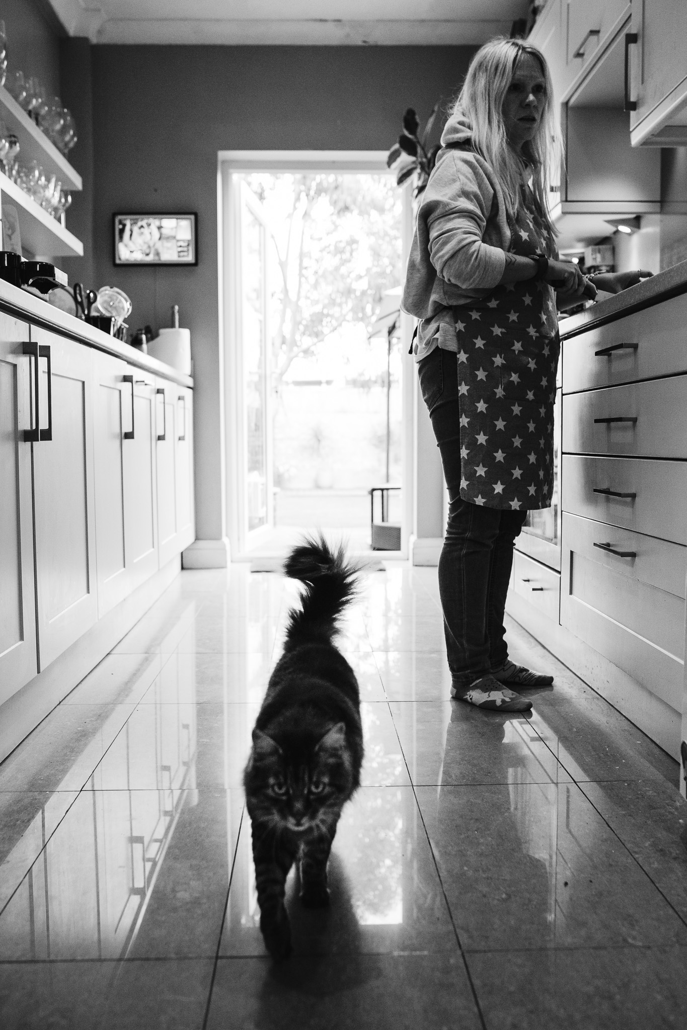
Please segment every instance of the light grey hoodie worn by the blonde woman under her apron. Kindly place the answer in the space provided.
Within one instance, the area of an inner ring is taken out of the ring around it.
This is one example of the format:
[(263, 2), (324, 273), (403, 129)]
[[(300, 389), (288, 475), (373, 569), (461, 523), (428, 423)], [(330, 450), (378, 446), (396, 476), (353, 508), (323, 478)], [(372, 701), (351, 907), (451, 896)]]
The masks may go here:
[[(485, 297), (501, 280), (511, 231), (501, 186), (483, 158), (450, 144), (469, 143), (472, 127), (453, 114), (422, 195), (401, 306), (420, 319), (418, 359), (437, 345), (456, 350), (452, 308)], [(431, 345), (430, 345), (431, 344)]]

